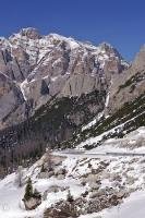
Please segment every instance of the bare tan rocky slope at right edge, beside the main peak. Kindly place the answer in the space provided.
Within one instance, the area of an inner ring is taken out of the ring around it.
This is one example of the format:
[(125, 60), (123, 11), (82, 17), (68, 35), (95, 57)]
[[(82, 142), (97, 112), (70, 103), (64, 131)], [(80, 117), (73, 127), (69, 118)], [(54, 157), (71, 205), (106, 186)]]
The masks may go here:
[(125, 102), (134, 100), (145, 93), (145, 47), (136, 55), (131, 66), (117, 75), (110, 86), (108, 113), (113, 113)]

